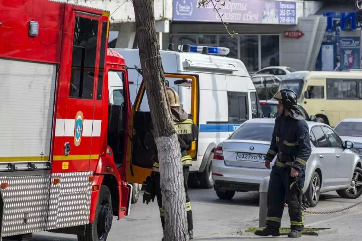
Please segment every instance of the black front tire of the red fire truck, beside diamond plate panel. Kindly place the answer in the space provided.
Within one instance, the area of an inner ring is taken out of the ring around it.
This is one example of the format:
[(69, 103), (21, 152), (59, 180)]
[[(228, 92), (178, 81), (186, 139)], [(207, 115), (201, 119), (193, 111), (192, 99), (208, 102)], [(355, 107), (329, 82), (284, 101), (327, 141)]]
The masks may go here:
[(78, 235), (78, 241), (106, 241), (113, 221), (111, 193), (102, 185), (99, 191), (96, 214), (93, 223), (87, 225), (85, 235)]

